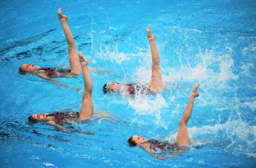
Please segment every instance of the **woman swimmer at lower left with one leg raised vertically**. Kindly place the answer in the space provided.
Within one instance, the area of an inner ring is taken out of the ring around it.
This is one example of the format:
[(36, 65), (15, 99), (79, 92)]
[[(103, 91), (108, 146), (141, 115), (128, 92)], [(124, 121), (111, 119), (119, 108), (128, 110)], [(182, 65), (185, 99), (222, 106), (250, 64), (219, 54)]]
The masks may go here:
[(89, 120), (93, 114), (93, 97), (92, 89), (93, 83), (88, 71), (88, 60), (83, 57), (82, 52), (79, 52), (79, 60), (81, 62), (83, 77), (84, 77), (84, 92), (82, 96), (82, 105), (80, 113), (52, 113), (52, 114), (32, 114), (28, 117), (28, 121), (31, 123), (36, 122), (45, 122), (49, 125), (54, 126), (55, 128), (63, 132), (78, 132), (85, 134), (93, 134), (88, 131), (75, 131), (69, 130), (61, 124), (69, 124), (68, 121), (72, 120)]

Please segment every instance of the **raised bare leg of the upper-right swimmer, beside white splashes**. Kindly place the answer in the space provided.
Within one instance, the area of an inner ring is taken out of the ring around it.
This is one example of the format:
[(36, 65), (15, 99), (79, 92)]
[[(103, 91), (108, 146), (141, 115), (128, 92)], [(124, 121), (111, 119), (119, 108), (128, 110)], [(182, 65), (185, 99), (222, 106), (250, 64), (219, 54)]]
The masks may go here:
[(154, 92), (159, 92), (159, 89), (162, 87), (160, 57), (155, 45), (155, 35), (151, 33), (150, 27), (147, 28), (147, 36), (148, 36), (148, 41), (149, 41), (151, 55), (152, 55), (152, 74), (151, 74), (150, 88)]

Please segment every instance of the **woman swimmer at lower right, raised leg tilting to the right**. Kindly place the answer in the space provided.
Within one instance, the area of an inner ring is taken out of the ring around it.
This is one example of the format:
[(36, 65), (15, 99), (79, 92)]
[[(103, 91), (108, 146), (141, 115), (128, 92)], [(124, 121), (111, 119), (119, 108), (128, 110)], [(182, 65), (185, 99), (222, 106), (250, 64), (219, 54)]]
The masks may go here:
[[(199, 93), (197, 92), (197, 88), (199, 87), (199, 85), (200, 83), (196, 83), (190, 94), (189, 102), (179, 122), (179, 131), (176, 143), (169, 144), (157, 140), (148, 140), (145, 139), (143, 136), (133, 135), (128, 139), (129, 146), (139, 146), (142, 149), (146, 150), (153, 157), (156, 157), (158, 159), (168, 159), (168, 157), (160, 157), (155, 152), (159, 150), (175, 150), (178, 146), (187, 145), (189, 143), (188, 121), (192, 113), (195, 97), (199, 96)], [(182, 153), (185, 152), (185, 150), (175, 151), (172, 155), (177, 155), (177, 152)]]

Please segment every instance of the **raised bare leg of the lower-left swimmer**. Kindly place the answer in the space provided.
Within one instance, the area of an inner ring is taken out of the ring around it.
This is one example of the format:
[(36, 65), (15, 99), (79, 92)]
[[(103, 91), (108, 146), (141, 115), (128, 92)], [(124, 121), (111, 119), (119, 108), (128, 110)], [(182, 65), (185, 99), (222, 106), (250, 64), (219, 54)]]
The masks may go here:
[(84, 76), (84, 93), (79, 118), (81, 120), (88, 120), (94, 111), (92, 97), (93, 82), (88, 71), (88, 60), (83, 57), (82, 52), (79, 52), (79, 60)]

